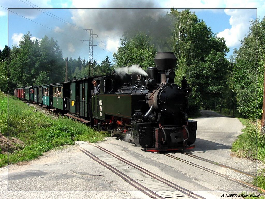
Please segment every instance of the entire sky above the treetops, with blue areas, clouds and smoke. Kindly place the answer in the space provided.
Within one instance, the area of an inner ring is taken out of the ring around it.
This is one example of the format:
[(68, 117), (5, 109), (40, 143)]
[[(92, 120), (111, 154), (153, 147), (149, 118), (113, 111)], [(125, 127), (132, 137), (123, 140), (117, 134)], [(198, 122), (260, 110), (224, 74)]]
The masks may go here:
[[(21, 37), (29, 31), (34, 40), (40, 40), (45, 35), (57, 40), (63, 57), (77, 59), (80, 56), (88, 60), (89, 42), (81, 40), (89, 39), (89, 33), (83, 29), (93, 28), (93, 33), (98, 34), (93, 36), (93, 45), (97, 45), (93, 47), (93, 59), (98, 63), (106, 56), (112, 61), (112, 53), (120, 45), (122, 33), (131, 26), (131, 20), (138, 16), (151, 15), (157, 18), (169, 12), (170, 7), (178, 8), (179, 11), (190, 8), (213, 33), (225, 38), (230, 49), (229, 56), (234, 48), (240, 47), (240, 40), (249, 31), (250, 21), (255, 20), (257, 15), (262, 19), (265, 14), (265, 1), (250, 0), (0, 0), (0, 6), (0, 49), (7, 41), (11, 48), (12, 45), (18, 45)], [(149, 9), (125, 9), (127, 7)], [(8, 13), (5, 8), (10, 8)]]

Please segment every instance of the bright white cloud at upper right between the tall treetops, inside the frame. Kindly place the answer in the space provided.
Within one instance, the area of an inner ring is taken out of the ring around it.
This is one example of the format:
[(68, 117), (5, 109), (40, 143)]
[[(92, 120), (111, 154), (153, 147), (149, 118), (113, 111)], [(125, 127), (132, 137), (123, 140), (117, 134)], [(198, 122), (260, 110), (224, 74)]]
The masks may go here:
[(240, 40), (246, 35), (250, 28), (250, 20), (253, 20), (255, 9), (229, 9), (224, 12), (230, 15), (229, 24), (231, 28), (225, 29), (217, 34), (218, 37), (224, 37), (228, 47), (237, 47)]

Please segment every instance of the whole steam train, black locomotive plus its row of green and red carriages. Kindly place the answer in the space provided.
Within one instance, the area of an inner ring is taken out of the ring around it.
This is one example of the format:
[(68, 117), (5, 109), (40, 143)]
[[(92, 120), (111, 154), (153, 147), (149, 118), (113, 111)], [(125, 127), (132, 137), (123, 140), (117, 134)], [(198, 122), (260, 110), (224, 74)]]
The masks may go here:
[[(197, 122), (188, 120), (187, 80), (183, 77), (181, 86), (174, 83), (174, 53), (158, 52), (154, 62), (156, 67), (147, 68), (147, 75), (117, 70), (107, 76), (15, 89), (15, 95), (66, 111), (65, 115), (127, 138), (146, 151), (194, 148)], [(92, 80), (100, 84), (99, 94), (93, 95)]]

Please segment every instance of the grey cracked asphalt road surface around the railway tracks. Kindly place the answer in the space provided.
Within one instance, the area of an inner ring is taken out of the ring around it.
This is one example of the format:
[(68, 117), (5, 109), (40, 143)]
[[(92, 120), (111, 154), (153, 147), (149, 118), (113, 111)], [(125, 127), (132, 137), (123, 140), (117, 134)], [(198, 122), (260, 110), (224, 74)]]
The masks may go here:
[[(189, 152), (255, 173), (255, 162), (231, 156), (231, 144), (243, 128), (237, 119), (202, 110), (202, 116), (193, 120), (198, 121), (196, 147)], [(115, 137), (97, 144), (205, 198), (249, 191), (229, 180), (163, 154), (145, 152)], [(149, 198), (86, 156), (78, 147), (77, 144), (66, 146), (47, 152), (36, 160), (10, 165), (8, 172), (7, 167), (0, 168), (0, 198)], [(227, 175), (235, 175), (228, 169), (218, 169)]]

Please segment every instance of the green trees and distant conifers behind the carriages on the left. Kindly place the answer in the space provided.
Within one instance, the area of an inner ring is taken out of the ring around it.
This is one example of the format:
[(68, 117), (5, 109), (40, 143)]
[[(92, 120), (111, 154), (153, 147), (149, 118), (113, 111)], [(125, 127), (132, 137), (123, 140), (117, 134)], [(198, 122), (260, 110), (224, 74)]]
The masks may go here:
[[(7, 71), (8, 69), (8, 71)], [(65, 81), (66, 60), (54, 38), (43, 37), (31, 40), (26, 33), (12, 49), (5, 46), (0, 50), (0, 90), (14, 93), (14, 88), (44, 85)], [(68, 78), (83, 78), (92, 75), (107, 75), (112, 72), (112, 64), (107, 56), (100, 64), (91, 64), (80, 57), (68, 60)], [(9, 80), (9, 81), (7, 81)], [(7, 84), (8, 83), (8, 84)]]

